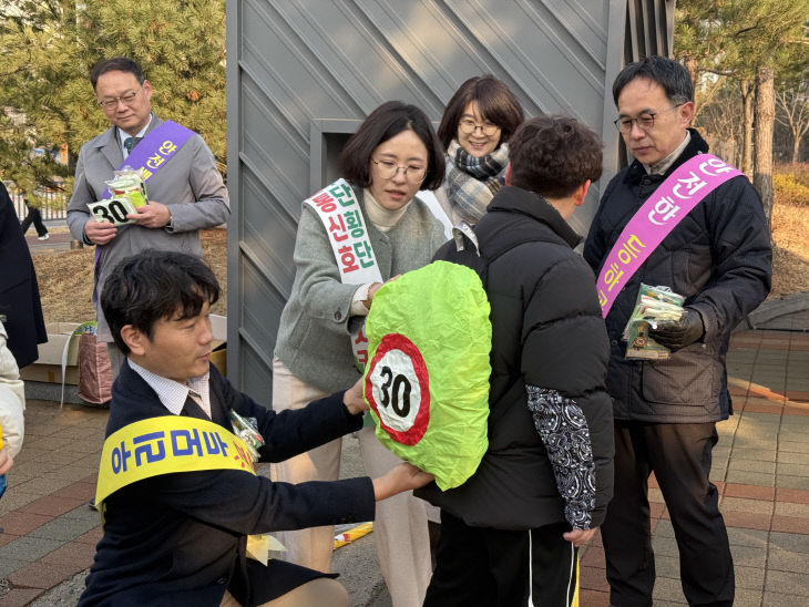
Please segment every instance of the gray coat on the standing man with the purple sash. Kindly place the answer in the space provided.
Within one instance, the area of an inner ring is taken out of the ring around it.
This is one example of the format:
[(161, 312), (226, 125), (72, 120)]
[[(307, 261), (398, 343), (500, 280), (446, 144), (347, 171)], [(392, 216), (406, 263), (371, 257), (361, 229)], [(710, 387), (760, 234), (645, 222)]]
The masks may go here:
[[(163, 121), (152, 114), (149, 131)], [(147, 132), (149, 132), (147, 131)], [(117, 128), (112, 126), (82, 145), (75, 167), (73, 196), (68, 205), (68, 225), (73, 238), (84, 238), (84, 224), (92, 218), (88, 203), (101, 199), (105, 182), (121, 166), (123, 153)], [(151, 229), (136, 225), (119, 228), (117, 236), (101, 249), (95, 272), (98, 292), (115, 265), (145, 249), (176, 250), (202, 257), (198, 230), (227, 222), (231, 214), (227, 188), (216, 168), (214, 155), (199, 135), (193, 135), (165, 167), (146, 184), (149, 198), (168, 206), (173, 229)], [(96, 304), (99, 340), (112, 341), (101, 307)]]

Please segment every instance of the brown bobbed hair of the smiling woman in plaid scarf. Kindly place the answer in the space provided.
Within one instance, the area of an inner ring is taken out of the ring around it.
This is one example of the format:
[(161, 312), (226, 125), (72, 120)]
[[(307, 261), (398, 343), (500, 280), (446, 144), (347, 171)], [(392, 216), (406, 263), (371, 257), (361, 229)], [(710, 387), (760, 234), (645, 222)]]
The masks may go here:
[(522, 106), (502, 80), (492, 74), (470, 78), (461, 84), (447, 104), (438, 127), (438, 138), (444, 150), (458, 136), (458, 123), (463, 110), (473, 101), (484, 120), (500, 126), (500, 143), (506, 143), (523, 121)]

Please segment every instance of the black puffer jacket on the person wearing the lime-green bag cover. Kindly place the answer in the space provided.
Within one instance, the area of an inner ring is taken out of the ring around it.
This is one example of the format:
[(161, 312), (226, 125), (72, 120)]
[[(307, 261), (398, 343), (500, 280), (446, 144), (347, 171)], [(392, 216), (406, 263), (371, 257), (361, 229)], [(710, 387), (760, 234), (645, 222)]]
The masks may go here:
[[(595, 471), (591, 525), (601, 525), (613, 486), (607, 340), (595, 279), (573, 251), (581, 240), (541, 196), (503, 187), (474, 229), (488, 266), (492, 374), (489, 449), (460, 487), (417, 491), (468, 525), (528, 529), (564, 522), (564, 502), (534, 425), (525, 385), (572, 399), (585, 418)], [(450, 241), (436, 258), (455, 260)], [(557, 441), (570, 440), (562, 432)]]

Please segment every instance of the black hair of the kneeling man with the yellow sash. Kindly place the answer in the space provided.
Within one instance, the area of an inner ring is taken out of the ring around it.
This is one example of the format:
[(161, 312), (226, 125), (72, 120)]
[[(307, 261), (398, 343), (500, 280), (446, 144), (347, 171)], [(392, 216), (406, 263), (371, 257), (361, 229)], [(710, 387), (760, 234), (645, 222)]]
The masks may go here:
[(122, 352), (130, 349), (121, 329), (132, 325), (151, 340), (162, 318), (184, 319), (199, 313), (205, 301), (219, 298), (219, 284), (199, 257), (150, 250), (123, 259), (101, 291), (101, 309)]

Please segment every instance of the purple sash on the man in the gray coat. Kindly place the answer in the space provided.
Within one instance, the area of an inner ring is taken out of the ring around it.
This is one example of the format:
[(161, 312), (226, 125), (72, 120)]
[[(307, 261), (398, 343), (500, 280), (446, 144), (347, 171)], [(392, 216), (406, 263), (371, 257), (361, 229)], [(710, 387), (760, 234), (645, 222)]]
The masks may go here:
[[(141, 140), (132, 152), (130, 152), (130, 155), (126, 156), (124, 162), (121, 163), (119, 171), (122, 171), (125, 167), (140, 169), (143, 175), (143, 181), (149, 183), (149, 181), (168, 163), (177, 150), (183, 147), (185, 142), (187, 142), (193, 135), (194, 131), (191, 128), (186, 128), (182, 124), (167, 120), (150, 131), (146, 136)], [(112, 192), (110, 192), (110, 188), (104, 191), (101, 198), (112, 198)], [(99, 257), (101, 257), (101, 248), (102, 245), (95, 245), (95, 258), (93, 259), (93, 302), (98, 300), (98, 264)]]

